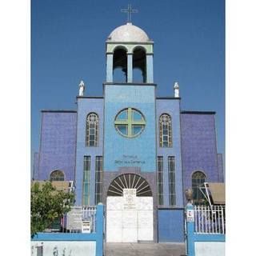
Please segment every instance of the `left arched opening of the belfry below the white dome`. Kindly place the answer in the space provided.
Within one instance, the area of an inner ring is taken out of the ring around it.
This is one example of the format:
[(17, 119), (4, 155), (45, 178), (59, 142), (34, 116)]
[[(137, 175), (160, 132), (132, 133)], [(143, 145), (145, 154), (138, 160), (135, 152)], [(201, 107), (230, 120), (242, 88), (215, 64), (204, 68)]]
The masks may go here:
[(127, 82), (127, 51), (123, 48), (114, 50), (113, 82)]

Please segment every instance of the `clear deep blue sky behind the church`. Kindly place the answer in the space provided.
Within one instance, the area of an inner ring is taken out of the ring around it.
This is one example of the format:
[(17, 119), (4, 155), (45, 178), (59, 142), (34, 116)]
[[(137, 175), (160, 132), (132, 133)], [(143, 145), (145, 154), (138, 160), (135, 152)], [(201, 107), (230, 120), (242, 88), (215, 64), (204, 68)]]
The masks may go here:
[(78, 83), (102, 96), (106, 38), (132, 23), (154, 41), (157, 96), (180, 86), (182, 110), (216, 111), (218, 152), (225, 150), (224, 0), (31, 0), (31, 149), (38, 151), (41, 110), (75, 110)]

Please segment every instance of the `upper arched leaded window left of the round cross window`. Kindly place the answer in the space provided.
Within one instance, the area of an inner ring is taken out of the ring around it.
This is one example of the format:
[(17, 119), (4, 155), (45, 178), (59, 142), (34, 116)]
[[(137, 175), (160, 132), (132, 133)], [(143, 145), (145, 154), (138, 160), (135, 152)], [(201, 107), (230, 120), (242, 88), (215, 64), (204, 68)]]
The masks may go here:
[(86, 118), (86, 146), (98, 146), (98, 114), (95, 113)]

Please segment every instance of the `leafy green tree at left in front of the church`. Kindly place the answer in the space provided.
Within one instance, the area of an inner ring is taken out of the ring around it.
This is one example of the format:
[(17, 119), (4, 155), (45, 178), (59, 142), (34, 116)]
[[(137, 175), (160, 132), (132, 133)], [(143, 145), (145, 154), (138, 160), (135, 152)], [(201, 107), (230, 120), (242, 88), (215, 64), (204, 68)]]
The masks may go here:
[(31, 186), (30, 200), (30, 233), (31, 237), (34, 237), (34, 234), (45, 230), (54, 220), (70, 211), (74, 202), (74, 193), (56, 190), (51, 182), (46, 182), (42, 187), (35, 182)]

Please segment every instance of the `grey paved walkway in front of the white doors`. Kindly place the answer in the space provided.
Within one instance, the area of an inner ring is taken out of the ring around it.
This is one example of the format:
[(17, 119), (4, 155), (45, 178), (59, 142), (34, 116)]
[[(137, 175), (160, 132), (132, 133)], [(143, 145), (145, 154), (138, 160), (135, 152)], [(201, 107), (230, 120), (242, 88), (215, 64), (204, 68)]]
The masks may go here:
[(107, 242), (105, 256), (185, 256), (184, 243)]

